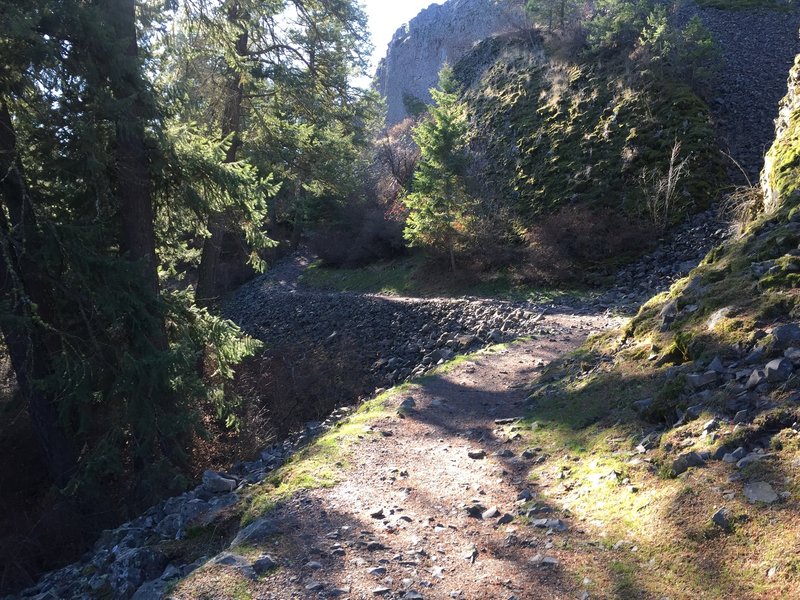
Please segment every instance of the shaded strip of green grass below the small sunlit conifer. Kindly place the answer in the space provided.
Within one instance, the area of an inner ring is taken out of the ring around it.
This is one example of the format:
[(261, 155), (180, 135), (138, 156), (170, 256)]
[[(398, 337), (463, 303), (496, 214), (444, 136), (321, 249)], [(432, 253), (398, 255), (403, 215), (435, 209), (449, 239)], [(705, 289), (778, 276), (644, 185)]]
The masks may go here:
[(356, 268), (315, 263), (303, 273), (300, 283), (311, 289), (420, 298), (476, 296), (548, 302), (568, 295), (590, 294), (588, 289), (574, 285), (551, 288), (520, 283), (511, 272), (485, 273), (464, 268), (453, 274), (432, 266), (421, 254)]

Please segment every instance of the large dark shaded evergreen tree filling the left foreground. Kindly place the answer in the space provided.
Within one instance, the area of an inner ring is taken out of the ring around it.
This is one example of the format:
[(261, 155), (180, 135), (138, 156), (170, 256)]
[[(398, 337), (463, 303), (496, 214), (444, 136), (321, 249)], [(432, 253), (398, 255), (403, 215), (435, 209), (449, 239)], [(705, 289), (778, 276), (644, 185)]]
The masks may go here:
[(171, 216), (253, 177), (164, 127), (136, 8), (0, 1), (0, 331), (52, 481), (118, 478), (146, 502), (147, 482), (180, 483), (196, 415), (221, 398), (198, 357), (224, 380), (257, 345), (161, 289)]

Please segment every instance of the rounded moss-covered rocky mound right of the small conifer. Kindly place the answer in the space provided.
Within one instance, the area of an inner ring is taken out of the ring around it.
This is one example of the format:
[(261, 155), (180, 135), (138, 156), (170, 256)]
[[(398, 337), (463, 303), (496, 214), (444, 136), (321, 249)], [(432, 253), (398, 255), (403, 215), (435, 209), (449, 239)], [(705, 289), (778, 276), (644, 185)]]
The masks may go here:
[(522, 38), (479, 44), (456, 73), (487, 187), (514, 198), (527, 223), (576, 204), (641, 216), (642, 171), (666, 170), (678, 141), (688, 175), (668, 219), (707, 206), (725, 177), (708, 106), (636, 69), (624, 57), (557, 60)]

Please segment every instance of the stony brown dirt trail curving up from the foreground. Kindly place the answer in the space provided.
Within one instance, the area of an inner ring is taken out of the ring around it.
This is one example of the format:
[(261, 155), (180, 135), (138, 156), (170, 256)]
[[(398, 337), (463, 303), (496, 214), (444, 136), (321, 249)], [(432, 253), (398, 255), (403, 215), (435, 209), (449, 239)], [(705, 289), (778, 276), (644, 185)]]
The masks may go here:
[[(546, 460), (535, 449), (523, 455), (529, 449), (506, 420), (524, 414), (524, 388), (542, 367), (611, 324), (547, 316), (552, 335), (479, 353), (390, 398), (392, 407), (414, 405), (373, 423), (380, 435), (355, 446), (341, 483), (270, 513), (282, 535), (258, 550), (281, 568), (253, 597), (580, 597), (569, 573), (587, 560), (575, 552), (585, 541), (567, 516), (540, 515), (556, 519), (544, 528), (504, 518), (516, 515), (521, 495), (535, 494), (528, 471)], [(567, 539), (570, 551), (560, 549)], [(178, 597), (217, 598), (229, 588), (206, 574)]]

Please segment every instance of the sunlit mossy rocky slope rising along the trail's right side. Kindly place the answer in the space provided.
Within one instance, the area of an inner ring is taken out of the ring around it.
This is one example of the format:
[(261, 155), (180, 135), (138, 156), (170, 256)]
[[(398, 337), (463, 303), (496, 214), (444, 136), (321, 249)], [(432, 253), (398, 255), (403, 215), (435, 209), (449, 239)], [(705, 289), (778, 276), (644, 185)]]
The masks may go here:
[(549, 500), (628, 548), (618, 597), (798, 594), (800, 57), (789, 88), (757, 216), (529, 398), (578, 461)]

